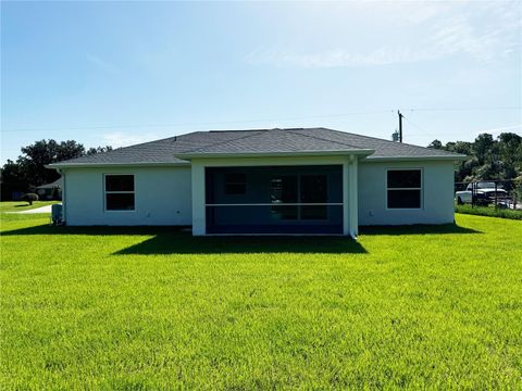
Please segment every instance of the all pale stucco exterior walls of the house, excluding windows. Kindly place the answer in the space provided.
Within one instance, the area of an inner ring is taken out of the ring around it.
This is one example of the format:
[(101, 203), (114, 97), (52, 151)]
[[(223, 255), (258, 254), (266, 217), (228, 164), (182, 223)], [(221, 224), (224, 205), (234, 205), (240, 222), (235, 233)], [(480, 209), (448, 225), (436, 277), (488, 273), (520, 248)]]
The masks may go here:
[[(285, 165), (285, 164), (346, 164), (346, 159), (238, 159), (231, 161), (201, 161), (196, 165)], [(422, 207), (420, 210), (388, 210), (386, 207), (386, 171), (388, 168), (422, 169)], [(198, 172), (198, 169), (196, 169)], [(134, 174), (136, 189), (135, 211), (104, 211), (103, 174)], [(191, 225), (196, 212), (196, 235), (204, 232), (204, 181), (192, 187), (190, 166), (66, 168), (64, 169), (64, 213), (67, 225)], [(445, 224), (453, 222), (453, 163), (452, 162), (366, 162), (358, 167), (358, 220), (364, 225)], [(192, 200), (196, 188), (201, 197)], [(352, 188), (352, 187), (351, 187)], [(350, 191), (351, 189), (348, 189)], [(196, 205), (194, 205), (194, 201)], [(346, 200), (347, 201), (347, 200)], [(345, 218), (350, 218), (345, 207)]]

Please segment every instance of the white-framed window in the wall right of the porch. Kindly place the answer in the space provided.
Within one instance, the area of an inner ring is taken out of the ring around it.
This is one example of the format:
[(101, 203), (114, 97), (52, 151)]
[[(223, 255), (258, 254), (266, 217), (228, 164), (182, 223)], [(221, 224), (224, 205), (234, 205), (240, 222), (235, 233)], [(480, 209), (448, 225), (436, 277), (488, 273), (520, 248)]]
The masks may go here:
[(422, 173), (420, 169), (388, 169), (388, 209), (420, 209)]

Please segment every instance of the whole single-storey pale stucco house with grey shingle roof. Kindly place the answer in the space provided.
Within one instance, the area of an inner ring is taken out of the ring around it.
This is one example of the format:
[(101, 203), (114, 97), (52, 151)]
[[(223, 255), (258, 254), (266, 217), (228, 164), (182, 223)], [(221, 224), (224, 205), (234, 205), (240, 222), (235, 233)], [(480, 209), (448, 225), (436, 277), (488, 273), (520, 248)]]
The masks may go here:
[(196, 131), (49, 165), (67, 225), (356, 237), (453, 222), (461, 154), (326, 128)]

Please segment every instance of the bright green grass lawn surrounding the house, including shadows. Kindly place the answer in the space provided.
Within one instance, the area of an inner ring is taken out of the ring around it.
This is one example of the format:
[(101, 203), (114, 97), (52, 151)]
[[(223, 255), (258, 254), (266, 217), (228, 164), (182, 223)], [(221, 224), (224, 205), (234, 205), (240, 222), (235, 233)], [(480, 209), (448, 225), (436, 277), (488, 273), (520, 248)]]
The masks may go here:
[(353, 242), (1, 219), (3, 390), (522, 388), (519, 220)]

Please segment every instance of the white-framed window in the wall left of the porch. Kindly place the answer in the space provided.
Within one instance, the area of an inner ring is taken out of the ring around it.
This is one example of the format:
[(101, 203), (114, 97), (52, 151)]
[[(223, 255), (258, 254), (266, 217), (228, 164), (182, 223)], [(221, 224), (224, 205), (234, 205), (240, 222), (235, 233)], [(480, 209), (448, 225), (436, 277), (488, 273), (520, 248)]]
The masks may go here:
[(105, 175), (105, 211), (134, 211), (134, 175)]

